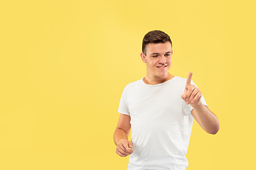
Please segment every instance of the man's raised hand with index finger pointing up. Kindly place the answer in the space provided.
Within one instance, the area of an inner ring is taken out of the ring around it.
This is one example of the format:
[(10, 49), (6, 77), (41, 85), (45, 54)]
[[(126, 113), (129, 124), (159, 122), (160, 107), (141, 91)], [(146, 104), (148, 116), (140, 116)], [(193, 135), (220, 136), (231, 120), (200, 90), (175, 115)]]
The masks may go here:
[(192, 74), (192, 72), (188, 74), (184, 94), (181, 98), (186, 102), (186, 104), (190, 104), (193, 107), (197, 106), (198, 103), (201, 103), (202, 93), (195, 85), (191, 84)]

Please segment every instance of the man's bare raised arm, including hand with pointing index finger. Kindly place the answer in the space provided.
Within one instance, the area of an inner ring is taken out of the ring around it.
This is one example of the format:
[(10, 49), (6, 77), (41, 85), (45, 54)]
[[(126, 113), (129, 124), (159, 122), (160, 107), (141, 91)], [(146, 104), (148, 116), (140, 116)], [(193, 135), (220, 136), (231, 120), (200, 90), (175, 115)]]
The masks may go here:
[(210, 134), (216, 134), (220, 129), (220, 123), (217, 116), (211, 112), (207, 106), (201, 102), (202, 93), (195, 85), (191, 84), (192, 72), (188, 74), (184, 94), (181, 98), (193, 107), (191, 114), (198, 124)]

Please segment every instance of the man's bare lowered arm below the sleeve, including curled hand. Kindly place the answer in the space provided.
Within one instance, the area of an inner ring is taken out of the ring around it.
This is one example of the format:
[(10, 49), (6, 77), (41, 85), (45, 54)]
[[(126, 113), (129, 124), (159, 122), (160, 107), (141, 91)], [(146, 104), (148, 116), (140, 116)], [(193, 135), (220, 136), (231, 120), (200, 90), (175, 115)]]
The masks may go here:
[(116, 152), (121, 157), (127, 157), (132, 154), (132, 142), (128, 141), (129, 132), (131, 130), (131, 117), (129, 115), (120, 114), (117, 128), (114, 131), (114, 143), (117, 145)]

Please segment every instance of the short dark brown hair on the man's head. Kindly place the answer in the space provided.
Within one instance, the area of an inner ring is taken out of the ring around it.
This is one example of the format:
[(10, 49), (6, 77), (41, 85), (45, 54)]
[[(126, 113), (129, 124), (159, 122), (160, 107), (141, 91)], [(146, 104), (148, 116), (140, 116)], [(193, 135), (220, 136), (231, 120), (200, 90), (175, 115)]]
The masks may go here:
[[(164, 43), (164, 42), (171, 42), (171, 38), (169, 37), (169, 35), (167, 35), (166, 33), (164, 33), (161, 30), (151, 30), (149, 31), (149, 33), (146, 33), (146, 35), (143, 38), (142, 41), (142, 52), (144, 53), (144, 55), (146, 55), (146, 45), (148, 45), (149, 43)], [(172, 42), (171, 42), (171, 46), (172, 46)]]

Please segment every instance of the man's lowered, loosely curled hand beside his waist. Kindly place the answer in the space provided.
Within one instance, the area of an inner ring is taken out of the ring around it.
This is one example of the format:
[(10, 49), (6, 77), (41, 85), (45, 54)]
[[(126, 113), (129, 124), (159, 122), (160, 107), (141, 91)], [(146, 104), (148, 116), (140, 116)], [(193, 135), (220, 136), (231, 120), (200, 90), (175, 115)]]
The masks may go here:
[(129, 149), (132, 148), (132, 142), (128, 140), (120, 140), (117, 143), (116, 152), (121, 157), (127, 157), (127, 155), (132, 154), (133, 150)]

